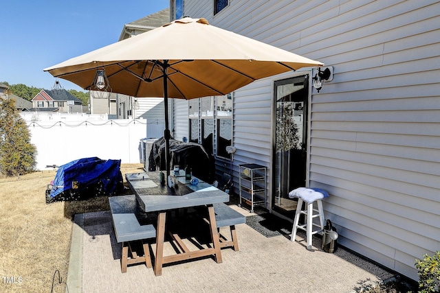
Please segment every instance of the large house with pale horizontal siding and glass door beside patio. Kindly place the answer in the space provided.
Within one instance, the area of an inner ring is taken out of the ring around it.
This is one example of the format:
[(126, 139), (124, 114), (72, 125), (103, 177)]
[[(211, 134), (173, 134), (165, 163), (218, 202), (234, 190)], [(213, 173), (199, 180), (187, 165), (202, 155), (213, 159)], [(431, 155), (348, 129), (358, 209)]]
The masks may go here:
[[(203, 132), (212, 133), (217, 170), (232, 165), (235, 187), (239, 164), (267, 167), (266, 207), (280, 217), (293, 219), (291, 189), (326, 189), (325, 217), (340, 244), (417, 279), (415, 259), (440, 249), (440, 2), (171, 0), (170, 7), (173, 19), (176, 11), (204, 17), (333, 69), (319, 93), (317, 69), (309, 68), (230, 97), (174, 99), (175, 138), (202, 143)], [(222, 121), (226, 108), (230, 120)], [(289, 134), (283, 119), (299, 131)], [(222, 135), (236, 147), (233, 161)], [(300, 143), (279, 146), (293, 135)]]

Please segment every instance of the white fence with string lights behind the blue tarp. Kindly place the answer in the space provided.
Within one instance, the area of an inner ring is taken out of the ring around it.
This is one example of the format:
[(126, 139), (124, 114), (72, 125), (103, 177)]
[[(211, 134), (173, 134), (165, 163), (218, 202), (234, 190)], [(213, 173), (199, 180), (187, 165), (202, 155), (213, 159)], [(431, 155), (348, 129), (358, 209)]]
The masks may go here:
[(36, 146), (36, 169), (98, 156), (122, 163), (143, 163), (146, 119), (114, 119), (106, 115), (22, 113)]

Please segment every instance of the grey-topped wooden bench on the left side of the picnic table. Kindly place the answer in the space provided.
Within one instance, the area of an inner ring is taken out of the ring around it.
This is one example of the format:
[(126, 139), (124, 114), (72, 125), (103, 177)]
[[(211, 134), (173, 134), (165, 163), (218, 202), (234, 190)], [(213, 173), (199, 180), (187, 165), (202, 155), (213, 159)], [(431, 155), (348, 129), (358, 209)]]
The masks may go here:
[[(118, 243), (122, 242), (121, 272), (126, 272), (127, 265), (133, 263), (144, 262), (147, 268), (151, 268), (150, 248), (148, 243), (144, 243), (144, 239), (156, 237), (156, 229), (152, 224), (141, 225), (138, 222), (135, 215), (135, 196), (113, 196), (109, 198), (109, 203), (116, 240)], [(132, 249), (133, 242), (137, 240), (142, 242), (143, 256), (137, 255)]]

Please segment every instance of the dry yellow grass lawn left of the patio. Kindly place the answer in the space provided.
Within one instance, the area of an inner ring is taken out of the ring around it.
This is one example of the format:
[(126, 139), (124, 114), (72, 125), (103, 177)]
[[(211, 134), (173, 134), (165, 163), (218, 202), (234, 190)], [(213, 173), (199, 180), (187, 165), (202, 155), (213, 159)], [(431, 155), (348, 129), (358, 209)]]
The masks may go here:
[[(122, 164), (121, 172), (142, 172), (142, 165)], [(103, 196), (46, 204), (46, 185), (55, 174), (0, 178), (0, 292), (51, 292), (56, 270), (67, 279), (73, 216), (109, 209)]]

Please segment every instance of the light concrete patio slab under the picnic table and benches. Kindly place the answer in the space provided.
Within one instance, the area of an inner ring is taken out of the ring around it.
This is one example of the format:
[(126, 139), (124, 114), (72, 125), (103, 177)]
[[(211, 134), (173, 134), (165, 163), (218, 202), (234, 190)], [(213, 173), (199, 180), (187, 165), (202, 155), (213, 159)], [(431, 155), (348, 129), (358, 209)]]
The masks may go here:
[[(234, 207), (243, 215), (253, 215)], [(144, 264), (120, 270), (118, 244), (109, 211), (76, 215), (67, 285), (69, 292), (354, 292), (361, 281), (381, 281), (390, 272), (338, 249), (325, 253), (285, 235), (265, 237), (247, 224), (236, 226), (239, 251), (222, 250), (222, 263), (212, 258), (164, 266), (155, 277)], [(224, 233), (228, 235), (228, 233)], [(298, 240), (303, 238), (300, 233)], [(228, 237), (228, 236), (227, 236)], [(166, 253), (173, 247), (166, 246)], [(154, 251), (154, 246), (153, 246)]]

